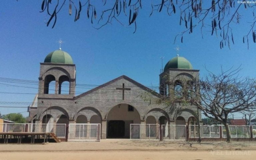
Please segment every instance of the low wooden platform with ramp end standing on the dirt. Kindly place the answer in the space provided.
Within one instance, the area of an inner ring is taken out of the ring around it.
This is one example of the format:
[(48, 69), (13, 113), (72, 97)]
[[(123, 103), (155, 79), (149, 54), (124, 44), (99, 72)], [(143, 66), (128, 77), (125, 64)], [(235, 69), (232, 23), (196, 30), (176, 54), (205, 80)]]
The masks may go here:
[(0, 132), (0, 142), (7, 144), (8, 140), (17, 139), (17, 143), (20, 144), (22, 139), (30, 139), (30, 143), (34, 144), (35, 139), (44, 139), (45, 142), (48, 142), (50, 137), (53, 138), (57, 143), (60, 142), (60, 139), (52, 132)]

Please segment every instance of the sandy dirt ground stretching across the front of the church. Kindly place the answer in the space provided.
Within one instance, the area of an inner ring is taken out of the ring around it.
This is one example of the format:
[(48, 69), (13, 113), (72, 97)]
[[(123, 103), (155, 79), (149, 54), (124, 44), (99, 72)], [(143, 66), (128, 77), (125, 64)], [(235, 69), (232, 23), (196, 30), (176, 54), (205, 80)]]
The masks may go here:
[(248, 160), (255, 157), (256, 142), (105, 139), (101, 142), (0, 145), (0, 160)]

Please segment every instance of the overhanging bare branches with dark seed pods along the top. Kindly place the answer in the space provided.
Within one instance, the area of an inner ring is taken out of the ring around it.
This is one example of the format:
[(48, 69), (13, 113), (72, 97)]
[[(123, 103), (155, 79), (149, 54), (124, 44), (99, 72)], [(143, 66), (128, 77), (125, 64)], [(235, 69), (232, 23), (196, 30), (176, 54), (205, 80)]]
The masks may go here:
[(201, 31), (202, 38), (203, 32), (207, 31), (209, 35), (221, 37), (219, 45), (221, 49), (225, 46), (230, 48), (231, 43), (234, 44), (233, 36), (235, 35), (232, 28), (243, 22), (244, 15), (251, 18), (243, 22), (250, 27), (244, 29), (245, 35), (241, 37), (241, 42), (247, 43), (249, 48), (249, 35), (252, 35), (252, 41), (256, 43), (254, 28), (256, 2), (254, 0), (153, 0), (151, 3), (145, 1), (144, 4), (141, 0), (102, 0), (102, 3), (90, 0), (43, 0), (41, 12), (47, 12), (49, 19), (46, 24), (49, 26), (51, 23), (52, 28), (56, 24), (58, 13), (64, 9), (67, 14), (74, 15), (75, 22), (82, 16), (87, 17), (92, 24), (97, 24), (96, 29), (111, 24), (115, 20), (123, 26), (134, 25), (136, 31), (139, 12), (142, 7), (150, 4), (152, 11), (149, 16), (159, 12), (166, 12), (169, 16), (179, 14), (178, 21), (184, 27), (184, 31), (177, 33), (174, 41), (179, 37), (183, 43), (185, 34), (192, 34), (195, 29), (198, 29)]

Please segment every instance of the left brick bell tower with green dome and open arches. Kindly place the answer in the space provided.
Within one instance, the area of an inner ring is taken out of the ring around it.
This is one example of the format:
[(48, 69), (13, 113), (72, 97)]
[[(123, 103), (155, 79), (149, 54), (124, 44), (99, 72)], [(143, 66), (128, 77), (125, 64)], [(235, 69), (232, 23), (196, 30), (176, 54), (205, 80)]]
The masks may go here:
[(40, 63), (38, 98), (73, 98), (76, 66), (71, 56), (61, 50), (49, 53)]

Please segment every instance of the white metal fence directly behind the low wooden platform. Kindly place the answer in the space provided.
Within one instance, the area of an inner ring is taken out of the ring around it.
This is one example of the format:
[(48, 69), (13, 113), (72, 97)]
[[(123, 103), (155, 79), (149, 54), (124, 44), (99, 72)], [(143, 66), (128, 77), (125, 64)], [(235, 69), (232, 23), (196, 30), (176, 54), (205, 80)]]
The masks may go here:
[(53, 132), (57, 137), (66, 137), (66, 124), (0, 123), (2, 132)]

